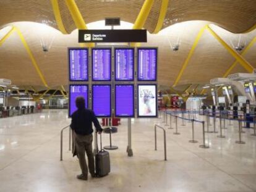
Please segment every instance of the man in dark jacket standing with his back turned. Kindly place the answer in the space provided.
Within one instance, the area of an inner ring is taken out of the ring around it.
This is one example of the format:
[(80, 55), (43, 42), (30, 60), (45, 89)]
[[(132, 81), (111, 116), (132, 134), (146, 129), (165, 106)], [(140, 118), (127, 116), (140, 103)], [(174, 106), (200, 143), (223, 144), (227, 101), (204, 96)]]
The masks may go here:
[(92, 151), (92, 122), (99, 134), (101, 134), (102, 128), (94, 112), (85, 109), (85, 99), (83, 97), (77, 97), (75, 99), (75, 105), (77, 106), (77, 111), (71, 115), (72, 120), (70, 127), (75, 132), (75, 147), (77, 149), (77, 156), (79, 157), (79, 164), (82, 170), (82, 174), (77, 175), (77, 178), (87, 180), (88, 168), (85, 161), (85, 152), (88, 158), (89, 172), (92, 177), (95, 177), (95, 162)]

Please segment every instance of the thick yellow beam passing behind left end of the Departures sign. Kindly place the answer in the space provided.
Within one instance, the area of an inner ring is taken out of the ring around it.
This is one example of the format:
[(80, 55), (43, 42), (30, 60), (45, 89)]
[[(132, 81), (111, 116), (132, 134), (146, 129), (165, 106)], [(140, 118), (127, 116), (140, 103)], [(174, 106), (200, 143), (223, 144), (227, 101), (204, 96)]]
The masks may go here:
[[(87, 30), (87, 26), (85, 24), (85, 21), (83, 20), (82, 14), (80, 13), (79, 8), (77, 7), (77, 4), (74, 0), (65, 0), (67, 7), (69, 8), (69, 12), (72, 16), (72, 19), (75, 22), (75, 26), (79, 30)], [(81, 46), (88, 46), (88, 47), (94, 47), (94, 43), (80, 43)]]

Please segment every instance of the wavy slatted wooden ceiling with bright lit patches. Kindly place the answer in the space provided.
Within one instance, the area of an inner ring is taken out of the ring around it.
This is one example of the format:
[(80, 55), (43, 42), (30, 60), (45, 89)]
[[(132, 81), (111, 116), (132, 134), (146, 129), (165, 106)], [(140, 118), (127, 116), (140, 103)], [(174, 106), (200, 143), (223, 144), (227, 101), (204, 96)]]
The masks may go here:
[[(75, 30), (72, 17), (65, 1), (59, 0), (58, 2), (64, 27), (68, 33), (71, 33)], [(103, 20), (105, 17), (121, 17), (121, 20), (134, 23), (144, 1), (76, 0), (75, 2), (86, 23)], [(144, 26), (150, 33), (155, 30), (160, 8), (161, 1), (155, 0)], [(186, 25), (174, 25), (175, 23), (189, 20), (205, 20), (208, 22), (196, 21), (186, 22)], [(9, 23), (21, 21), (46, 22), (49, 26), (58, 29), (50, 1), (1, 0), (0, 28), (9, 25)], [(158, 35), (148, 35), (148, 43), (142, 44), (142, 46), (159, 47), (160, 60), (158, 75), (160, 85), (173, 85), (179, 70), (181, 70), (182, 64), (189, 54), (198, 31), (207, 23), (215, 23), (220, 26), (221, 28), (213, 26), (213, 29), (224, 41), (231, 45), (231, 42), (234, 43), (239, 38), (239, 35), (233, 33), (242, 33), (255, 26), (256, 1), (169, 1), (163, 28), (170, 25), (173, 26), (166, 29), (168, 31), (166, 32), (167, 35), (166, 33), (161, 33), (161, 31)], [(27, 28), (22, 23), (15, 23), (15, 25), (20, 28), (28, 41), (49, 86), (66, 85), (66, 48), (69, 46), (78, 46), (77, 32), (74, 31), (74, 33), (67, 36), (54, 30), (53, 33), (56, 33), (56, 38), (53, 47), (51, 51), (45, 54), (41, 51), (40, 43), (38, 43), (36, 27)], [(229, 33), (229, 31), (232, 33)], [(248, 44), (255, 35), (256, 31), (252, 31), (242, 35), (242, 39)], [(174, 52), (171, 50), (169, 43), (174, 43), (178, 36), (181, 40), (181, 45), (179, 51)], [(10, 40), (7, 40), (0, 47), (0, 77), (11, 78), (17, 85), (41, 86), (42, 83), (32, 68), (27, 53), (22, 49), (22, 44), (15, 34), (12, 34)], [(244, 56), (254, 67), (256, 67), (255, 50), (256, 46), (253, 46)], [(205, 31), (178, 85), (207, 83), (210, 78), (221, 77), (233, 62), (234, 58), (230, 56), (226, 49), (208, 31)], [(29, 72), (29, 74), (26, 73), (25, 76), (20, 75), (23, 72)], [(244, 72), (244, 69), (240, 65), (237, 65), (233, 69), (233, 72)]]

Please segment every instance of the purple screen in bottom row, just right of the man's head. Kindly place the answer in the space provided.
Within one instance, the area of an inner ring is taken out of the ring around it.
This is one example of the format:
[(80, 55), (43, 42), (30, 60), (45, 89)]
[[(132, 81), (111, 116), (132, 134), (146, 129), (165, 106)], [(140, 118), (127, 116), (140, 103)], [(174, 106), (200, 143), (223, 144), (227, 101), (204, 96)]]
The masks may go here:
[(92, 109), (97, 117), (111, 117), (111, 85), (92, 86)]

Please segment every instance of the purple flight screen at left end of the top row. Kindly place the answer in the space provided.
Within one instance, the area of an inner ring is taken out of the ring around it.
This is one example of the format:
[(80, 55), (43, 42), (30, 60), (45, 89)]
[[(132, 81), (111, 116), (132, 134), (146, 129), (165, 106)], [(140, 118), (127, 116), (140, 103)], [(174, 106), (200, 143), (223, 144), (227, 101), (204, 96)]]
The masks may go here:
[(88, 81), (88, 49), (69, 49), (69, 80)]

